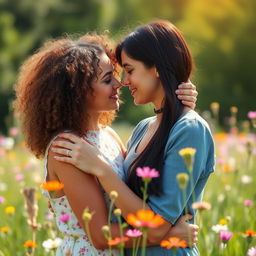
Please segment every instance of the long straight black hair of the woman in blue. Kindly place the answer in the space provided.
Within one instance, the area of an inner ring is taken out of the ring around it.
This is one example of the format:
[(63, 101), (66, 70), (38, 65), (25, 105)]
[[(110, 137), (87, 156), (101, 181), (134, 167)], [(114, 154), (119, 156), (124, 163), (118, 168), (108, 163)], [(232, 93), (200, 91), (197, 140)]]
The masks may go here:
[(148, 166), (157, 169), (160, 178), (151, 181), (148, 194), (160, 195), (164, 149), (170, 130), (184, 109), (175, 90), (180, 83), (188, 81), (193, 66), (192, 57), (181, 32), (172, 23), (162, 20), (139, 27), (117, 45), (116, 58), (120, 65), (122, 51), (148, 68), (155, 66), (165, 92), (161, 123), (128, 171), (128, 186), (141, 197), (143, 184), (136, 175), (136, 168)]

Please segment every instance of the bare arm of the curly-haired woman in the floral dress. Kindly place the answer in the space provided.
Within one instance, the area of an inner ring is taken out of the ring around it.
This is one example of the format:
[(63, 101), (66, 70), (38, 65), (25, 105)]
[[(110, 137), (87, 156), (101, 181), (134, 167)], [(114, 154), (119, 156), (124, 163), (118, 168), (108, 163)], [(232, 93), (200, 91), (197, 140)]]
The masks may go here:
[[(48, 156), (49, 172), (54, 172), (60, 182), (64, 184), (63, 192), (67, 196), (69, 204), (74, 211), (80, 226), (85, 230), (82, 218), (86, 207), (94, 212), (89, 223), (94, 247), (105, 249), (108, 247), (106, 239), (101, 231), (103, 225), (107, 224), (107, 208), (103, 198), (102, 190), (96, 178), (92, 175), (82, 173), (76, 167), (61, 163), (53, 158), (53, 152), (49, 151)], [(111, 225), (113, 237), (120, 236), (118, 225)]]

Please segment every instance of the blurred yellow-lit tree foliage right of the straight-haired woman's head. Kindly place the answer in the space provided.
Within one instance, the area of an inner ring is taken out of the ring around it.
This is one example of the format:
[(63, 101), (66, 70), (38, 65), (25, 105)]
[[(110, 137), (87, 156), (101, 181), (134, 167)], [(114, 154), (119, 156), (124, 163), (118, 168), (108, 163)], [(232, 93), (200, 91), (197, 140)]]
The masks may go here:
[(198, 108), (220, 102), (221, 116), (255, 109), (256, 1), (191, 0), (177, 25), (189, 39), (200, 92)]

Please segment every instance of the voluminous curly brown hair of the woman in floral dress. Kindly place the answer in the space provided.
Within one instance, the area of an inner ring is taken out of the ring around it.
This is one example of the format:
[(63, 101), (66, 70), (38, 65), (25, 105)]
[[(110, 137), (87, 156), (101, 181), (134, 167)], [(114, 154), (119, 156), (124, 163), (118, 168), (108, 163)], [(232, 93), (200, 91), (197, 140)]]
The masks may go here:
[[(58, 39), (46, 42), (21, 66), (14, 107), (26, 144), (36, 157), (43, 157), (51, 139), (64, 130), (84, 134), (85, 99), (92, 92), (98, 56), (104, 51), (115, 64), (106, 35)], [(115, 111), (102, 113), (100, 124), (109, 125), (114, 117)]]

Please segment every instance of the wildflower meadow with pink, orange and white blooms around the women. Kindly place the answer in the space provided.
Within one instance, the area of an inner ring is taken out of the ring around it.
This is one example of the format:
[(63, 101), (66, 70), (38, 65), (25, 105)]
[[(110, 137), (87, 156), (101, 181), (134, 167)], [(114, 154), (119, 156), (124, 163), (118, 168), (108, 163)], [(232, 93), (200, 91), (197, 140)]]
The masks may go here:
[[(238, 123), (238, 109), (232, 107), (229, 126), (224, 132), (219, 128), (219, 104), (213, 103), (211, 111), (209, 122), (215, 138), (216, 166), (206, 186), (203, 202), (193, 204), (198, 209), (198, 248), (203, 256), (256, 255), (256, 112), (250, 111), (248, 120)], [(188, 169), (187, 172), (181, 170), (177, 176), (183, 191), (193, 182), (190, 173), (196, 151), (186, 148), (179, 154)], [(54, 193), (65, 184), (42, 184), (42, 173), (42, 161), (28, 152), (18, 128), (10, 128), (7, 137), (0, 136), (0, 256), (55, 254), (62, 236), (41, 191), (45, 189)], [(137, 175), (144, 181), (145, 201), (149, 182), (159, 174), (157, 170), (142, 167), (138, 168)], [(110, 194), (111, 207), (117, 197), (115, 191)], [(115, 209), (114, 214), (122, 234), (126, 225), (122, 223), (121, 210)], [(69, 215), (63, 215), (60, 221), (68, 223), (69, 218)], [(93, 214), (85, 209), (83, 219), (87, 228), (91, 218)], [(136, 255), (138, 240), (145, 245), (148, 229), (161, 225), (162, 219), (141, 209), (130, 214), (127, 222), (134, 228), (121, 237), (111, 237), (107, 225), (102, 228), (109, 247), (118, 246), (120, 255), (123, 255), (122, 248), (128, 239), (133, 241)], [(175, 255), (178, 247), (187, 245), (176, 237), (170, 237), (163, 240), (161, 246), (173, 250)], [(146, 255), (146, 249), (142, 253)], [(67, 252), (67, 255), (70, 254)]]

